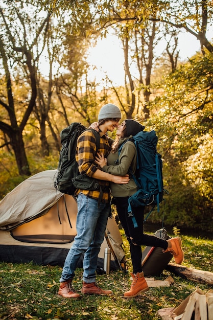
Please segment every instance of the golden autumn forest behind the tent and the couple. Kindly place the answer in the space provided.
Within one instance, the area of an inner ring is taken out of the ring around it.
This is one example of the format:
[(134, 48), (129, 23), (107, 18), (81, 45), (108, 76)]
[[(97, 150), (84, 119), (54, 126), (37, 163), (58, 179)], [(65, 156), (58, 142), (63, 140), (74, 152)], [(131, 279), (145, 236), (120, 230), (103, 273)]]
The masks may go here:
[[(30, 175), (56, 169), (60, 131), (74, 121), (88, 126), (110, 102), (158, 135), (169, 191), (164, 223), (212, 232), (212, 22), (210, 0), (1, 1), (0, 199)], [(182, 31), (200, 43), (184, 61)], [(123, 51), (124, 85), (107, 74), (97, 81), (88, 62), (111, 33)], [(162, 221), (162, 210), (149, 221)]]

